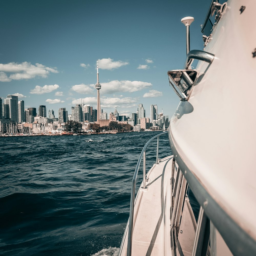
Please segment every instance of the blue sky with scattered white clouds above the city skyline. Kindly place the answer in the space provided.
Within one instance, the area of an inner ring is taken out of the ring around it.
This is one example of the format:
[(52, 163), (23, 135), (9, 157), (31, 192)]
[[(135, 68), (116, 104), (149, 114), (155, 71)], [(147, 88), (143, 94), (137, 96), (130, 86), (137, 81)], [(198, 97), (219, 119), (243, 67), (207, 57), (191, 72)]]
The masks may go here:
[[(47, 113), (84, 103), (97, 108), (96, 62), (101, 108), (136, 113), (142, 103), (174, 114), (179, 98), (167, 71), (182, 69), (186, 29), (190, 49), (202, 49), (200, 25), (211, 1), (44, 0), (1, 2), (0, 97), (17, 95), (25, 108)], [(48, 115), (47, 115), (48, 116)]]

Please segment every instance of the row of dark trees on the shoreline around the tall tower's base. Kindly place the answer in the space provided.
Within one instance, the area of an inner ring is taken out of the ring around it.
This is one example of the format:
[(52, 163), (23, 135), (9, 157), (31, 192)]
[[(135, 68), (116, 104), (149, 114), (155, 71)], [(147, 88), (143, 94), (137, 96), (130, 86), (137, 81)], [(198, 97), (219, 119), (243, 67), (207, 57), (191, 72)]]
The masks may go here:
[[(82, 124), (73, 120), (69, 120), (65, 125), (65, 132), (73, 132), (78, 133), (81, 132)], [(118, 132), (125, 132), (125, 131), (132, 131), (133, 126), (130, 124), (120, 124), (115, 121), (111, 121), (109, 125), (100, 126), (96, 123), (90, 123), (88, 129), (91, 129), (97, 133), (105, 131), (118, 131)]]

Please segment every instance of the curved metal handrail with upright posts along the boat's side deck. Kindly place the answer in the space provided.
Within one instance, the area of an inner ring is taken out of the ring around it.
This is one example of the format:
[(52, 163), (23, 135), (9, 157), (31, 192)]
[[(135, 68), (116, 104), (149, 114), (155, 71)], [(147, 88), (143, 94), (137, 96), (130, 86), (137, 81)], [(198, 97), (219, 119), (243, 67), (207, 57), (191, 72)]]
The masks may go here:
[[(129, 231), (128, 231), (128, 244), (127, 244), (127, 256), (131, 256), (132, 253), (132, 233), (133, 233), (133, 212), (134, 212), (134, 200), (135, 200), (135, 185), (136, 185), (136, 178), (138, 175), (138, 170), (140, 167), (140, 163), (141, 163), (141, 159), (142, 156), (144, 156), (143, 158), (143, 186), (145, 188), (145, 165), (146, 165), (146, 158), (145, 158), (145, 150), (147, 145), (154, 139), (154, 138), (158, 138), (158, 143), (157, 143), (157, 159), (158, 159), (158, 147), (159, 147), (159, 136), (163, 135), (163, 134), (168, 134), (168, 132), (163, 132), (160, 134), (155, 135), (154, 137), (152, 137), (143, 147), (143, 150), (141, 151), (140, 157), (138, 159), (135, 171), (134, 171), (134, 175), (133, 175), (133, 179), (132, 179), (132, 191), (131, 191), (131, 203), (130, 203), (130, 218), (129, 218)], [(158, 160), (156, 162), (156, 164), (158, 163)]]

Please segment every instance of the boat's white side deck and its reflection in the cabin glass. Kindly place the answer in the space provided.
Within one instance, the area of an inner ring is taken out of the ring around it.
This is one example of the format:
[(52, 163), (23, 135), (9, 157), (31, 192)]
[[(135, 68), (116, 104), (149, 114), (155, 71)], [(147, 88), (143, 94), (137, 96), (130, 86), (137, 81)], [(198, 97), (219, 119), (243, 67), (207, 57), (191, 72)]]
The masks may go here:
[[(172, 156), (163, 158), (158, 165), (154, 164), (147, 174), (149, 178), (146, 182), (147, 189), (140, 188), (138, 192), (134, 207), (132, 256), (172, 254), (170, 247), (171, 168)], [(185, 214), (189, 215), (187, 204), (184, 206)], [(187, 225), (193, 227), (192, 220)], [(194, 233), (193, 227), (192, 239)], [(191, 231), (186, 232), (184, 228), (181, 237), (187, 240), (188, 235), (191, 236)], [(122, 256), (127, 252), (127, 236), (128, 231), (125, 234), (123, 247), (120, 248)], [(180, 247), (186, 252), (184, 255), (191, 255), (190, 250), (193, 244), (180, 241)]]

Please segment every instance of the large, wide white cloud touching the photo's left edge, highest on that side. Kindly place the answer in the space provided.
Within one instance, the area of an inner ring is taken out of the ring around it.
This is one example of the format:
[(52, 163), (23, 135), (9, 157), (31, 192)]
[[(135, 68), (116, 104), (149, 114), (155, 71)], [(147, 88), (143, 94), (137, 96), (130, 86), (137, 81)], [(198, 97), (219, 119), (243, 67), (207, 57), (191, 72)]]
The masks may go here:
[[(46, 78), (50, 72), (58, 73), (57, 68), (49, 68), (42, 64), (36, 63), (32, 65), (30, 62), (15, 63), (10, 62), (7, 64), (0, 63), (0, 81), (10, 82), (12, 80), (31, 79), (35, 77)], [(7, 73), (12, 73), (7, 76)]]

